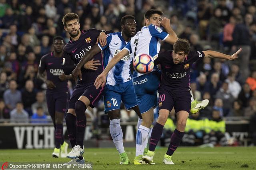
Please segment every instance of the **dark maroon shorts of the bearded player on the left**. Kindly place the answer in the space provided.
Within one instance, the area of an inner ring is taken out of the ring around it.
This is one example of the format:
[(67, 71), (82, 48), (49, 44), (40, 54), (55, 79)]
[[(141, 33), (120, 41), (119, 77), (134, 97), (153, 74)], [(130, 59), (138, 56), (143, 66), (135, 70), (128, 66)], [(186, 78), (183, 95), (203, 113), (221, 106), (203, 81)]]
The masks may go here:
[(102, 97), (103, 88), (96, 89), (93, 84), (76, 85), (70, 100), (68, 109), (75, 109), (75, 103), (80, 96), (85, 96), (90, 100), (90, 107), (94, 108)]

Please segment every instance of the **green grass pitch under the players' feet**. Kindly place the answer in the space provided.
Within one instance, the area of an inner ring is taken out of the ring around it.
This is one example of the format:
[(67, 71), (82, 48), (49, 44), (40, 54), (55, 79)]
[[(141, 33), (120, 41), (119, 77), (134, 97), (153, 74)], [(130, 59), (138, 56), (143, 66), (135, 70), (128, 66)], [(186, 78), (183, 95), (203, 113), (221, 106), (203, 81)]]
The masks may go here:
[[(70, 150), (70, 148), (69, 148)], [(125, 148), (130, 165), (119, 165), (119, 155), (115, 148), (86, 148), (86, 163), (92, 162), (94, 170), (187, 170), (187, 169), (256, 169), (256, 147), (179, 147), (173, 155), (175, 165), (162, 164), (166, 148), (157, 148), (154, 156), (156, 165), (134, 165), (135, 148)], [(52, 158), (52, 149), (0, 150), (3, 162), (64, 163), (68, 158)]]

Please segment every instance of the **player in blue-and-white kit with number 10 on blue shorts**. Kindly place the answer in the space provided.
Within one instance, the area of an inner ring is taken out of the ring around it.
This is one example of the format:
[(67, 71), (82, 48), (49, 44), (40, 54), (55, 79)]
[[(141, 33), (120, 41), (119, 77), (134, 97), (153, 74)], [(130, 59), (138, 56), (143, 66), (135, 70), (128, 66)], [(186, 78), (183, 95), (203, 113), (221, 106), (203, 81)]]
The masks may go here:
[[(84, 55), (80, 60), (76, 68), (72, 71), (74, 77), (82, 76), (81, 68), (89, 61), (95, 54), (103, 50), (104, 67), (108, 64), (108, 61), (114, 57), (119, 51), (121, 51), (125, 45), (130, 42), (131, 38), (136, 33), (136, 22), (134, 16), (126, 15), (121, 19), (121, 32), (110, 33), (107, 36), (107, 45), (102, 47), (100, 43), (94, 45), (92, 49)], [(120, 154), (120, 164), (128, 164), (129, 159), (124, 151), (123, 144), (123, 132), (120, 127), (120, 104), (123, 101), (127, 110), (133, 109), (138, 118), (137, 127), (142, 122), (140, 110), (136, 102), (134, 94), (134, 87), (132, 85), (132, 77), (130, 71), (130, 63), (132, 62), (132, 56), (127, 55), (122, 58), (108, 73), (106, 86), (104, 88), (103, 98), (105, 105), (105, 113), (108, 114), (110, 119), (110, 134)]]

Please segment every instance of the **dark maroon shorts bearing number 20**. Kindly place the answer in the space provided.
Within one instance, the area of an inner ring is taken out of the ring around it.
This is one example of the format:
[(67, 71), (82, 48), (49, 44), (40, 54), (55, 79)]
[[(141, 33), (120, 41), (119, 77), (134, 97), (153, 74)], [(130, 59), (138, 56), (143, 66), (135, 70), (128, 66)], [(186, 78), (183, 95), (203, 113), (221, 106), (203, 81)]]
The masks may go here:
[(191, 94), (190, 91), (174, 92), (168, 90), (168, 87), (160, 87), (158, 89), (158, 109), (166, 109), (171, 111), (174, 107), (176, 113), (179, 111), (187, 111), (190, 113)]

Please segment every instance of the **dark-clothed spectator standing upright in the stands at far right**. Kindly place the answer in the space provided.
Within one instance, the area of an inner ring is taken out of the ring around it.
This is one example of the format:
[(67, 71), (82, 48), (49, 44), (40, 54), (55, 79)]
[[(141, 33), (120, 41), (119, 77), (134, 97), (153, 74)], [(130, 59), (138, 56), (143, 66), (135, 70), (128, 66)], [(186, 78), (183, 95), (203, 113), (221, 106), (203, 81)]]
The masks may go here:
[[(243, 75), (243, 82), (249, 76), (249, 59), (250, 59), (250, 34), (249, 29), (245, 24), (243, 24), (243, 19), (241, 16), (237, 17), (236, 26), (233, 32), (233, 46), (232, 51), (236, 52), (239, 48), (243, 50), (240, 53), (240, 71)], [(242, 61), (242, 62), (241, 62)]]

